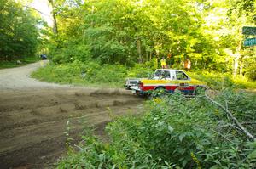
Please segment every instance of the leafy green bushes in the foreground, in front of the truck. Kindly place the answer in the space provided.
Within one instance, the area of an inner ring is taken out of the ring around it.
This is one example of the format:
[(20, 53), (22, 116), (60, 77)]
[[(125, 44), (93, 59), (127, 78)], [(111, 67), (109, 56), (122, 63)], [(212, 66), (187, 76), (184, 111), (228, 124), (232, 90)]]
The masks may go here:
[[(256, 134), (255, 95), (226, 90), (214, 96)], [(93, 135), (68, 147), (58, 168), (253, 168), (256, 142), (247, 138), (224, 110), (199, 96), (180, 93), (152, 99), (139, 117), (108, 124), (110, 143)]]

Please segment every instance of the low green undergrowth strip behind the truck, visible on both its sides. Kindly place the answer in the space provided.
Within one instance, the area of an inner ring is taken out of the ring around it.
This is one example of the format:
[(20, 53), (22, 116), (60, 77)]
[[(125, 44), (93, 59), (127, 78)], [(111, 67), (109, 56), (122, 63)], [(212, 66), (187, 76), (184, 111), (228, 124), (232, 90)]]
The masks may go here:
[[(125, 65), (99, 65), (95, 62), (73, 62), (70, 64), (49, 65), (32, 73), (32, 77), (45, 82), (73, 84), (88, 87), (123, 87), (127, 77), (145, 77), (152, 75), (154, 69), (150, 65), (135, 65), (128, 68)], [(256, 82), (249, 81), (244, 76), (233, 77), (229, 73), (208, 71), (189, 71), (190, 77), (207, 82), (209, 87), (223, 89), (255, 89)]]

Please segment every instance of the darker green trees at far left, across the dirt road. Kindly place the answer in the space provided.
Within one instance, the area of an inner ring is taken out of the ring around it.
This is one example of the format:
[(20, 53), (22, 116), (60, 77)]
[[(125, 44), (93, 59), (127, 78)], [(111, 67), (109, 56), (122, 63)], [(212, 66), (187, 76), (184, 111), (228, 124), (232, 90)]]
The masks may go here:
[(14, 0), (0, 2), (0, 61), (32, 57), (38, 47), (38, 20)]

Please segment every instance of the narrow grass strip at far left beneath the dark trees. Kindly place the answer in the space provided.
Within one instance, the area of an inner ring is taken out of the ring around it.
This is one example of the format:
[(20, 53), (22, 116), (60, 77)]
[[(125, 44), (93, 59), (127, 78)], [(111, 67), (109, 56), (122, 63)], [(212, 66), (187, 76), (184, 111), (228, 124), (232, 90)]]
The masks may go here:
[[(18, 60), (20, 60), (20, 63), (17, 62)], [(24, 59), (16, 59), (15, 61), (0, 61), (0, 69), (20, 67), (26, 64), (37, 62), (38, 60), (39, 58), (37, 57), (28, 57)]]

